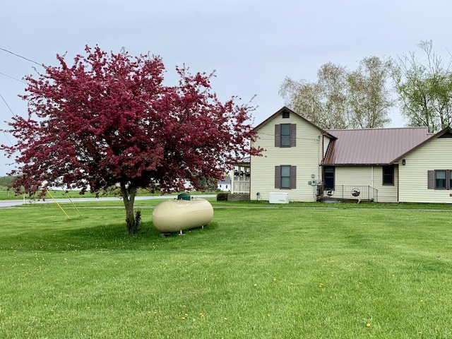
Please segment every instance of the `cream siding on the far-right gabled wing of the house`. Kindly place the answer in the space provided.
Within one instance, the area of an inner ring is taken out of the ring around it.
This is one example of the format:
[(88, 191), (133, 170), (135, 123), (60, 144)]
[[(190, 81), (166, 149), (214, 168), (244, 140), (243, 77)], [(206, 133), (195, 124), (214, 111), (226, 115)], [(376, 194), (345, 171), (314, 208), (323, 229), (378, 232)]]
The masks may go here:
[(452, 190), (428, 189), (427, 171), (452, 169), (452, 138), (436, 138), (405, 156), (399, 165), (399, 201), (452, 203)]

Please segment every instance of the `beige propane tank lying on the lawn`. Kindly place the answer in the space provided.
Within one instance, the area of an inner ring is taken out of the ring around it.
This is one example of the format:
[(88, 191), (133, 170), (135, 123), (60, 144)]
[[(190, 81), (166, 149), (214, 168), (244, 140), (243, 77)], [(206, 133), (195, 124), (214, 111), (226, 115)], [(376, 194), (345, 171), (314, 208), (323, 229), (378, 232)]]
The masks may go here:
[(203, 198), (193, 200), (169, 200), (155, 206), (153, 224), (165, 233), (190, 230), (207, 225), (213, 218), (213, 208)]

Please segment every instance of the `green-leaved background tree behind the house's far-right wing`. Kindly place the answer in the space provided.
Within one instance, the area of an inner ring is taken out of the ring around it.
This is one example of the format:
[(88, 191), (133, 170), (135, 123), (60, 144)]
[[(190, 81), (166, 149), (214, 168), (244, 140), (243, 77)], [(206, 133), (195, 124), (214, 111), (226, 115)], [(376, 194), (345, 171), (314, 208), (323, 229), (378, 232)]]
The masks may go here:
[(444, 65), (433, 52), (432, 40), (417, 46), (424, 52), (423, 62), (415, 52), (394, 59), (400, 112), (410, 126), (427, 126), (429, 132), (436, 132), (452, 122), (452, 58)]

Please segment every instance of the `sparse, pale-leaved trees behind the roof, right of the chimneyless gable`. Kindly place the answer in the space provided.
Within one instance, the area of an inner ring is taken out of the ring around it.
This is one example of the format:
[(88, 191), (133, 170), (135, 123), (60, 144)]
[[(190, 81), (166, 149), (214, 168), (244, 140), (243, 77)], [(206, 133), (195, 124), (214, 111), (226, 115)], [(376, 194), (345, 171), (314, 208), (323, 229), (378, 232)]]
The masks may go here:
[(356, 71), (324, 64), (316, 83), (285, 78), (280, 95), (285, 105), (323, 129), (378, 128), (388, 124), (393, 106), (386, 88), (388, 61), (362, 59)]

